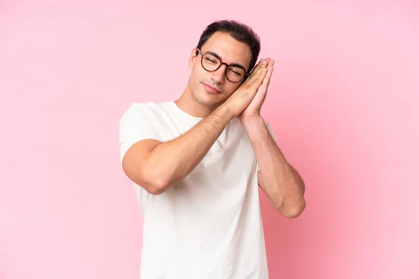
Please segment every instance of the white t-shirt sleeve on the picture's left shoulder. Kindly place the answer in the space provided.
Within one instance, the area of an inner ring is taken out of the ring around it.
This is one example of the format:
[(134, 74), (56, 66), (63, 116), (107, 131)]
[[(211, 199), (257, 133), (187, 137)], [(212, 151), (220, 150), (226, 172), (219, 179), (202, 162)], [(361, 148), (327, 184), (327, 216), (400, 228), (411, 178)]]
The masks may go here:
[(119, 150), (121, 164), (126, 151), (140, 140), (161, 140), (153, 123), (152, 113), (131, 106), (119, 121)]

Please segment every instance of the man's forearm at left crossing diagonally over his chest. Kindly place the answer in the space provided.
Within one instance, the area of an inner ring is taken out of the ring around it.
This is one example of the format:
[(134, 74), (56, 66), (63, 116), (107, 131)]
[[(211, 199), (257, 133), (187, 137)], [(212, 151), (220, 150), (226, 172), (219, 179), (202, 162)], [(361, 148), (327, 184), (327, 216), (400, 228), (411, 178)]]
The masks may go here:
[(159, 169), (164, 187), (182, 181), (210, 151), (232, 116), (219, 107), (188, 132), (156, 146), (148, 158), (150, 169)]

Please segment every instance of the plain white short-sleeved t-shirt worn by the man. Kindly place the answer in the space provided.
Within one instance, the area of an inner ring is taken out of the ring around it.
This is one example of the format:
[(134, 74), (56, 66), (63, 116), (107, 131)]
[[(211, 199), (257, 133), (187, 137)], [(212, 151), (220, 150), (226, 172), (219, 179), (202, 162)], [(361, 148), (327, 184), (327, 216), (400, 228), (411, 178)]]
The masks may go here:
[[(200, 120), (173, 101), (131, 105), (119, 126), (121, 162), (135, 142), (173, 140)], [(161, 195), (134, 183), (144, 216), (140, 278), (268, 278), (257, 171), (249, 137), (232, 119), (181, 183)]]

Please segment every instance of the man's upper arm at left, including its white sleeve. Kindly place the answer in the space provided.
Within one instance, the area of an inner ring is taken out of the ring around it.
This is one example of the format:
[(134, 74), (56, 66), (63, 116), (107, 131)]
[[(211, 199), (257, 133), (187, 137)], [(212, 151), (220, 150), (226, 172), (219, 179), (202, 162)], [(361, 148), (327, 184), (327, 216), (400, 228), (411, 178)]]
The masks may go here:
[(119, 121), (119, 149), (122, 169), (133, 182), (153, 192), (156, 181), (147, 170), (147, 159), (163, 140), (153, 114), (142, 107), (130, 107)]

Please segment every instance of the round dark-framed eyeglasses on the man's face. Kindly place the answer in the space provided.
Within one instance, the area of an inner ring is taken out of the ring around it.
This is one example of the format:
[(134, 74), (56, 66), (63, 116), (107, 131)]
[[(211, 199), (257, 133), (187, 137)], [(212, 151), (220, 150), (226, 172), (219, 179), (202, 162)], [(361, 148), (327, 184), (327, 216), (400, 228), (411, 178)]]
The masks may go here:
[(215, 72), (221, 67), (221, 65), (226, 65), (225, 75), (227, 80), (234, 83), (241, 82), (244, 77), (249, 75), (241, 65), (228, 65), (227, 63), (221, 61), (221, 58), (218, 55), (212, 52), (201, 52), (199, 49), (197, 49), (197, 51), (201, 54), (201, 65), (208, 72)]

